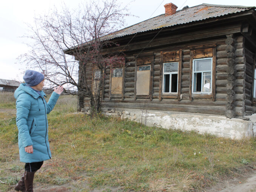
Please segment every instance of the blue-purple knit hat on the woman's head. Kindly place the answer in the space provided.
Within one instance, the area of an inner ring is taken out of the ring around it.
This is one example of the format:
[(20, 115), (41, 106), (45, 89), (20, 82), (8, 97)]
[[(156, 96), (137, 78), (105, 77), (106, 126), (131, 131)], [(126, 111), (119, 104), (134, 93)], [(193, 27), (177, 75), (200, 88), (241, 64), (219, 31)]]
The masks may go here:
[(24, 79), (25, 83), (28, 84), (28, 86), (36, 86), (39, 83), (41, 83), (41, 81), (44, 78), (45, 77), (43, 76), (42, 73), (39, 73), (39, 72), (33, 71), (33, 70), (27, 70), (25, 72), (25, 75), (23, 76), (23, 79)]

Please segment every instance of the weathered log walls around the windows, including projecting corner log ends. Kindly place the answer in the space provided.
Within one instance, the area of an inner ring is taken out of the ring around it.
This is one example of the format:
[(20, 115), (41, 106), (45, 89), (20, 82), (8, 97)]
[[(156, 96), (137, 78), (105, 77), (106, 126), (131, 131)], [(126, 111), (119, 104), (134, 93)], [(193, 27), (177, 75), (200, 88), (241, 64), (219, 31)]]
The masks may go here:
[[(251, 107), (252, 79), (252, 53), (244, 47), (242, 35), (228, 35), (215, 40), (197, 42), (197, 45), (215, 43), (216, 46), (216, 75), (215, 75), (215, 98), (192, 98), (190, 100), (190, 59), (191, 50), (189, 46), (172, 46), (157, 49), (148, 49), (154, 52), (153, 86), (152, 98), (136, 98), (134, 100), (135, 88), (135, 65), (137, 52), (130, 52), (125, 57), (123, 98), (111, 95), (109, 97), (110, 70), (106, 70), (104, 87), (104, 104), (108, 108), (135, 108), (153, 109), (179, 112), (196, 112), (204, 114), (226, 115), (228, 118), (242, 117), (253, 111)], [(147, 52), (145, 51), (145, 52)], [(179, 78), (180, 96), (162, 97), (162, 73), (161, 51), (181, 51), (182, 69)], [(245, 59), (246, 58), (246, 59)], [(90, 67), (88, 66), (88, 69)], [(213, 77), (214, 78), (214, 77)], [(161, 98), (161, 99), (160, 99)], [(86, 99), (84, 100), (86, 102)], [(87, 100), (88, 102), (88, 100)]]

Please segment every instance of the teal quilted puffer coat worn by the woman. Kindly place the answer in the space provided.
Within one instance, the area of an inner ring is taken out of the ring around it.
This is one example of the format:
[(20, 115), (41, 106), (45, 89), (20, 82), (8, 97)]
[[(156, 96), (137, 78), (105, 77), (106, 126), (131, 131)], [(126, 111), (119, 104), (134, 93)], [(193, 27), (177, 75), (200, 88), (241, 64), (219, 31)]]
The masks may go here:
[[(52, 111), (60, 95), (53, 92), (46, 103), (45, 93), (40, 91), (40, 94), (42, 97), (25, 83), (20, 84), (14, 92), (20, 161), (24, 163), (45, 161), (51, 158), (46, 114)], [(33, 146), (32, 154), (25, 152), (25, 147), (30, 145)]]

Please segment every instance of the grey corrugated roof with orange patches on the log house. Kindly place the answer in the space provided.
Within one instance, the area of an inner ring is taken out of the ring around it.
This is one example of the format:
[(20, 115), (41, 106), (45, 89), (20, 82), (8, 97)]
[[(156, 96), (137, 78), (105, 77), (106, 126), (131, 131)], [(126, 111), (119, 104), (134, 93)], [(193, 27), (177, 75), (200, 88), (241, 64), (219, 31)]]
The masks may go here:
[(151, 31), (155, 29), (181, 25), (208, 18), (221, 17), (228, 14), (235, 14), (242, 11), (255, 9), (255, 7), (247, 6), (228, 6), (228, 5), (210, 5), (203, 3), (187, 9), (178, 10), (173, 15), (165, 16), (165, 14), (150, 18), (143, 22), (129, 26), (127, 28), (116, 31), (113, 34), (102, 37), (102, 40), (123, 37), (125, 35), (133, 35), (139, 32)]

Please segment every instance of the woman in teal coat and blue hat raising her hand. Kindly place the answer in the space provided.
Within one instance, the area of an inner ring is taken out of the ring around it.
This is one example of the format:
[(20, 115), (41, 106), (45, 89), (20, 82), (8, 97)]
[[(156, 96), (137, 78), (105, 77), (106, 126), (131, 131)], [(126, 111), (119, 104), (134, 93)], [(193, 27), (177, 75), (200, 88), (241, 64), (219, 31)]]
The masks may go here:
[(25, 83), (20, 84), (14, 93), (16, 99), (16, 124), (19, 130), (18, 143), (20, 161), (25, 163), (25, 173), (16, 184), (15, 190), (33, 192), (34, 174), (51, 158), (48, 141), (47, 115), (54, 108), (63, 87), (54, 89), (46, 103), (44, 76), (40, 72), (27, 70), (23, 76)]

